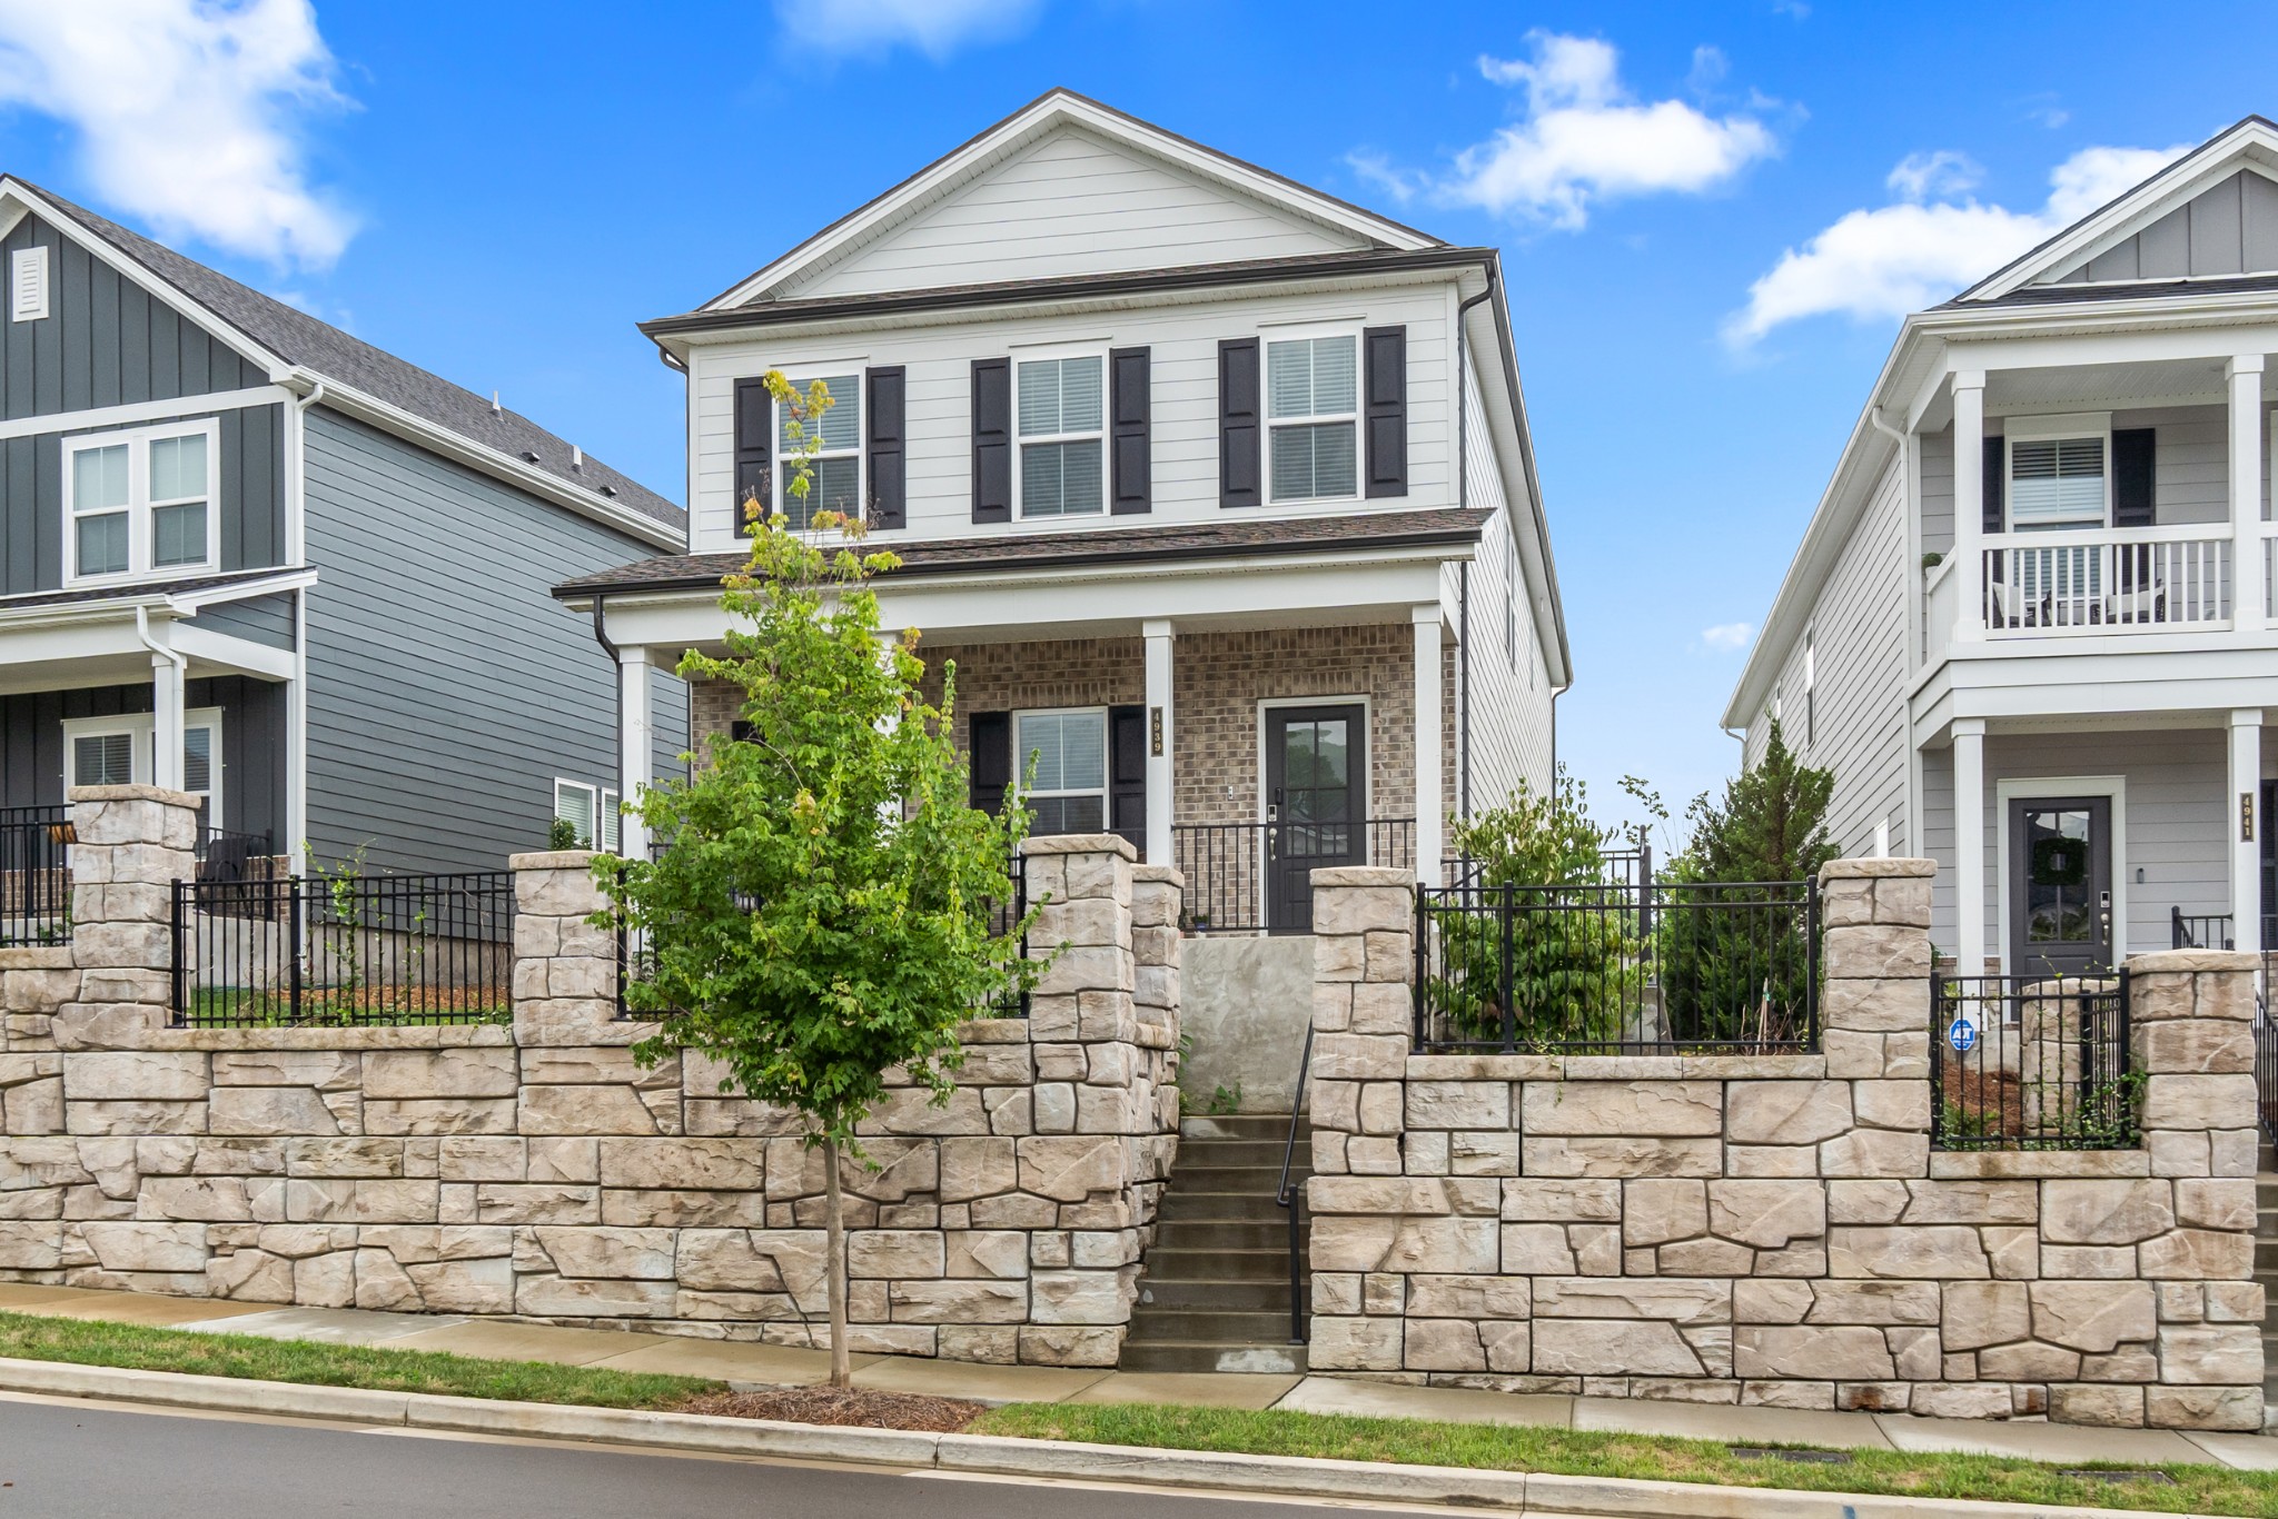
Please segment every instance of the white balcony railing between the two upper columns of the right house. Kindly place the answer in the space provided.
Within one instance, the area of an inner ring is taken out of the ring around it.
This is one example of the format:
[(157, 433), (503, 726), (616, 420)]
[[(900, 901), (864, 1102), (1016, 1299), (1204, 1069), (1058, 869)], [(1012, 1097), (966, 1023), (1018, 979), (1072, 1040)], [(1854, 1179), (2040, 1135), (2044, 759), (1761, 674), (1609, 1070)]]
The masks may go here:
[(1984, 551), (1996, 638), (2228, 624), (2228, 524), (2014, 533)]

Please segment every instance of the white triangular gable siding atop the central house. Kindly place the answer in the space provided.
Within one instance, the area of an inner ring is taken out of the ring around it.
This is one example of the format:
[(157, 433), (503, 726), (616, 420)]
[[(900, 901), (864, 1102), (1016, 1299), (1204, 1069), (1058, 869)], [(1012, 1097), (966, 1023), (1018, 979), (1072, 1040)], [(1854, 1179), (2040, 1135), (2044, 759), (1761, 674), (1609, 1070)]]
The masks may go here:
[(781, 296), (1349, 253), (1353, 235), (1062, 128)]

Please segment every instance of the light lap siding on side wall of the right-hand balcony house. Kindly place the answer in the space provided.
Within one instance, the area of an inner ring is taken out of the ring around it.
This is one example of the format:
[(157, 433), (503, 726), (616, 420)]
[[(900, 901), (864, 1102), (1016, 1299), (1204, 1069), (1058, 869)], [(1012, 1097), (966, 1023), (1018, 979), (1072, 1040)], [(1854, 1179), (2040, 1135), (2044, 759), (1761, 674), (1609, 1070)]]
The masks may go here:
[[(1904, 469), (1893, 458), (1859, 515), (1834, 572), (1811, 608), (1811, 713), (1804, 699), (1804, 640), (1779, 670), (1788, 747), (1820, 770), (1834, 770), (1827, 836), (1843, 856), (1875, 852), (1877, 824), (1891, 824), (1891, 854), (1907, 854), (1907, 499)], [(1747, 726), (1745, 763), (1754, 765), (1772, 736), (1772, 713)]]

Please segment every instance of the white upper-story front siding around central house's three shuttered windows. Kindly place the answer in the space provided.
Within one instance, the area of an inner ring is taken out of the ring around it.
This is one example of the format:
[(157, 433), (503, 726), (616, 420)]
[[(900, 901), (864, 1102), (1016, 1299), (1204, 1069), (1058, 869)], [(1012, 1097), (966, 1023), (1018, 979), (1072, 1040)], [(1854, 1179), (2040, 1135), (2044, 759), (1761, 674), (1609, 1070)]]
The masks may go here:
[[(1089, 344), (1150, 351), (1153, 490), (1146, 517), (1068, 517), (1041, 531), (1087, 524), (1169, 526), (1226, 522), (1219, 506), (1219, 342), (1271, 337), (1262, 323), (1351, 323), (1408, 328), (1408, 494), (1355, 501), (1353, 510), (1453, 506), (1453, 417), (1449, 414), (1449, 319), (1442, 285), (1408, 285), (1310, 296), (1246, 296), (1153, 310), (1080, 317), (957, 317), (934, 326), (836, 337), (699, 346), (693, 353), (695, 503), (693, 549), (736, 547), (736, 380), (784, 369), (813, 376), (838, 364), (900, 364), (907, 371), (904, 428), (909, 531), (895, 537), (1016, 533), (1023, 524), (973, 524), (973, 360), (1030, 346)], [(1273, 508), (1257, 508), (1271, 512)], [(1298, 508), (1319, 510), (1319, 508)], [(1246, 512), (1253, 515), (1253, 512)], [(1039, 531), (1030, 524), (1027, 531)]]

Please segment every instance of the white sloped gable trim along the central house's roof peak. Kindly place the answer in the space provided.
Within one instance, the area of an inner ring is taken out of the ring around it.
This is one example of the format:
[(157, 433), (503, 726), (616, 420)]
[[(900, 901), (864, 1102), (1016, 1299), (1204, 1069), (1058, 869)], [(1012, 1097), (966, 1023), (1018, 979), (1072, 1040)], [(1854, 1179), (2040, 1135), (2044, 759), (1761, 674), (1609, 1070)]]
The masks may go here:
[(797, 276), (816, 273), (829, 266), (845, 253), (870, 244), (886, 228), (932, 207), (959, 184), (986, 173), (1059, 125), (1084, 128), (1109, 143), (1128, 146), (1137, 153), (1164, 159), (1244, 198), (1294, 214), (1303, 221), (1365, 237), (1387, 248), (1440, 246), (1440, 239), (1426, 237), (1415, 228), (1406, 228), (1396, 221), (1376, 216), (1374, 212), (1365, 212), (1358, 205), (1346, 205), (1333, 196), (1305, 189), (1303, 184), (1267, 173), (1255, 164), (1244, 164), (1242, 159), (1191, 143), (1185, 137), (1175, 137), (1134, 116), (1114, 112), (1098, 100), (1087, 100), (1073, 91), (1055, 89), (1021, 107), (961, 148), (934, 159), (877, 200), (841, 216), (790, 253), (740, 280), (731, 289), (713, 296), (697, 310), (718, 312), (738, 307), (765, 296)]

